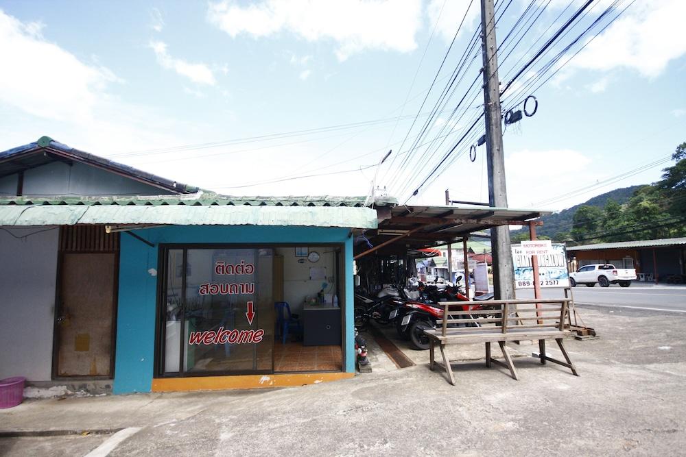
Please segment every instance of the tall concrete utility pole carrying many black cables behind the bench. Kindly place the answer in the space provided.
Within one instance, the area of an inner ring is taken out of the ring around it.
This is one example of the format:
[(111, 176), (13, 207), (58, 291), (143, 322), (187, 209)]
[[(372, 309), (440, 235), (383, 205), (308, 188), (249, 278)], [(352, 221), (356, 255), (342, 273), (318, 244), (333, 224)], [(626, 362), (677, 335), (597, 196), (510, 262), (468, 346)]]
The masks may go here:
[[(481, 37), (484, 51), (484, 114), (486, 119), (486, 164), (488, 166), (488, 203), (495, 208), (508, 207), (505, 186), (505, 157), (500, 114), (497, 42), (495, 40), (493, 0), (481, 0)], [(514, 271), (510, 229), (499, 225), (490, 230), (493, 249), (495, 299), (514, 298)]]

